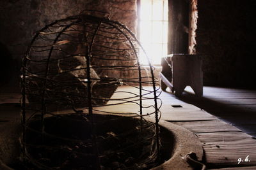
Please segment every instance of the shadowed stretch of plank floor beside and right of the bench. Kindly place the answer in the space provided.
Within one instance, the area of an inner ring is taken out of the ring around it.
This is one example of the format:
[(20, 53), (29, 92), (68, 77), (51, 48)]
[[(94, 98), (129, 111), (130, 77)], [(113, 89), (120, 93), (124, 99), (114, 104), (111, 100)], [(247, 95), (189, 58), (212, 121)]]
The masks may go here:
[(204, 87), (204, 96), (196, 97), (187, 87), (179, 99), (256, 137), (256, 90)]

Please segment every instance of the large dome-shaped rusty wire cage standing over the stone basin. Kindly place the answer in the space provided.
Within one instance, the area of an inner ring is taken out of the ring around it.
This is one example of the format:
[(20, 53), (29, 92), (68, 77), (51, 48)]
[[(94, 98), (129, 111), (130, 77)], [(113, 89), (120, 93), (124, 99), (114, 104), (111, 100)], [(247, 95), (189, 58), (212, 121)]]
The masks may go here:
[(157, 166), (161, 92), (139, 52), (134, 34), (107, 17), (68, 17), (36, 32), (22, 62), (28, 169)]

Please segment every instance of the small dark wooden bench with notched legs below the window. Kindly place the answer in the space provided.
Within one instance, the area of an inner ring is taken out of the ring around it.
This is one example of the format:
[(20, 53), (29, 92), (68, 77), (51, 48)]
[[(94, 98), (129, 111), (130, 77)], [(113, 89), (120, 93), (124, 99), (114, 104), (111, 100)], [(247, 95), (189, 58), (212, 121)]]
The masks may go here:
[(171, 54), (162, 58), (161, 88), (169, 87), (179, 97), (187, 85), (196, 96), (203, 96), (202, 56), (195, 54)]

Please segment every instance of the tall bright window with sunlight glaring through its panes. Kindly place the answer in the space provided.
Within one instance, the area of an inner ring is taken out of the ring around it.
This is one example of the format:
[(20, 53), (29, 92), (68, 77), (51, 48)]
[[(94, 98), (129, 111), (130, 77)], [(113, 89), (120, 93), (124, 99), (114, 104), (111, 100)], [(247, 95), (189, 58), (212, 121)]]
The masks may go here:
[[(168, 0), (140, 0), (140, 42), (152, 64), (167, 55)], [(140, 62), (147, 63), (140, 53)]]

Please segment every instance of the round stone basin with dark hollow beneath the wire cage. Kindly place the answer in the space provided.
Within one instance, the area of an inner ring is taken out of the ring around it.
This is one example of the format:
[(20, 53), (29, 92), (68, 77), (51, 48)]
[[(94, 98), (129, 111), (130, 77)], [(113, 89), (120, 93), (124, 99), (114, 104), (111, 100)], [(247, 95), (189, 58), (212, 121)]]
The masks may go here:
[[(72, 114), (45, 118), (44, 128), (49, 134), (46, 136), (36, 132), (42, 127), (40, 118), (34, 118), (29, 123), (29, 127), (36, 131), (27, 130), (26, 132), (28, 145), (26, 149), (29, 156), (38, 160), (39, 166), (42, 165), (43, 169), (47, 167), (95, 169), (93, 164), (97, 164), (97, 159), (93, 156), (95, 150), (92, 146), (92, 126), (88, 117), (84, 115)], [(155, 151), (156, 143), (154, 140), (140, 141), (152, 136), (154, 126), (140, 131), (139, 118), (112, 115), (95, 115), (94, 120), (97, 122), (95, 129), (98, 136), (98, 152), (104, 155), (100, 157), (101, 169), (131, 168), (134, 165), (136, 165), (134, 169), (193, 169), (184, 159), (190, 152), (196, 153), (197, 159), (202, 160), (203, 150), (196, 136), (169, 122), (159, 122), (160, 157), (149, 159), (148, 155)], [(154, 121), (152, 119), (149, 122)], [(144, 121), (143, 125), (147, 126), (148, 122)], [(21, 129), (19, 122), (6, 123), (5, 126), (12, 127), (13, 132), (11, 131), (11, 139), (8, 138), (7, 131), (2, 132), (4, 141), (0, 139), (0, 155), (3, 155), (0, 157), (2, 159), (0, 169), (1, 165), (20, 169), (24, 163), (17, 159), (20, 156), (19, 143), (17, 143), (17, 138), (20, 136), (19, 129)], [(122, 148), (127, 149), (122, 150)], [(33, 169), (33, 165), (27, 163), (26, 166), (31, 166)]]

